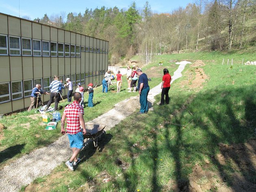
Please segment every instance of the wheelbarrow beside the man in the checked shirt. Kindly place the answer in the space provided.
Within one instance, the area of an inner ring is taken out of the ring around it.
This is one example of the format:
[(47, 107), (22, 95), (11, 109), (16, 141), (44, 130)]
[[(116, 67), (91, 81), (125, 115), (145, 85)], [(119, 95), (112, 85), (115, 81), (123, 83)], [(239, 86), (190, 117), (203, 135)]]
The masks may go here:
[(87, 124), (85, 125), (86, 134), (84, 134), (83, 145), (84, 147), (88, 144), (89, 139), (93, 141), (94, 147), (98, 146), (98, 139), (105, 134), (104, 131), (106, 125)]

